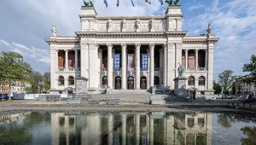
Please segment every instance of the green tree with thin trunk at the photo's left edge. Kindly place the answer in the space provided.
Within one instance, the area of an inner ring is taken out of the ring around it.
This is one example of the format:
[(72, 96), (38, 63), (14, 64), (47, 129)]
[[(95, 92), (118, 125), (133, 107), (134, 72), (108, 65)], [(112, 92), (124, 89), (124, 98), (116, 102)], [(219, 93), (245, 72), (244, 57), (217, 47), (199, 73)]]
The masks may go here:
[(23, 61), (23, 56), (19, 53), (3, 51), (0, 54), (0, 80), (9, 85), (9, 101), (11, 84), (17, 81), (26, 82), (31, 72), (32, 67)]

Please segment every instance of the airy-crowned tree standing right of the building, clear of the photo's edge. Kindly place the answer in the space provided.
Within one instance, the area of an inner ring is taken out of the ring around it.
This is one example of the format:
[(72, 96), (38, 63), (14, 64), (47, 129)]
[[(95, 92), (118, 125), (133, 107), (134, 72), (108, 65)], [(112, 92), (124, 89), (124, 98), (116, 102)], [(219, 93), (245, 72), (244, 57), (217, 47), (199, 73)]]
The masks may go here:
[(225, 70), (223, 73), (218, 74), (218, 83), (222, 87), (222, 93), (224, 95), (229, 94), (229, 90), (232, 88), (232, 83), (235, 81), (236, 76), (232, 75), (233, 71)]

